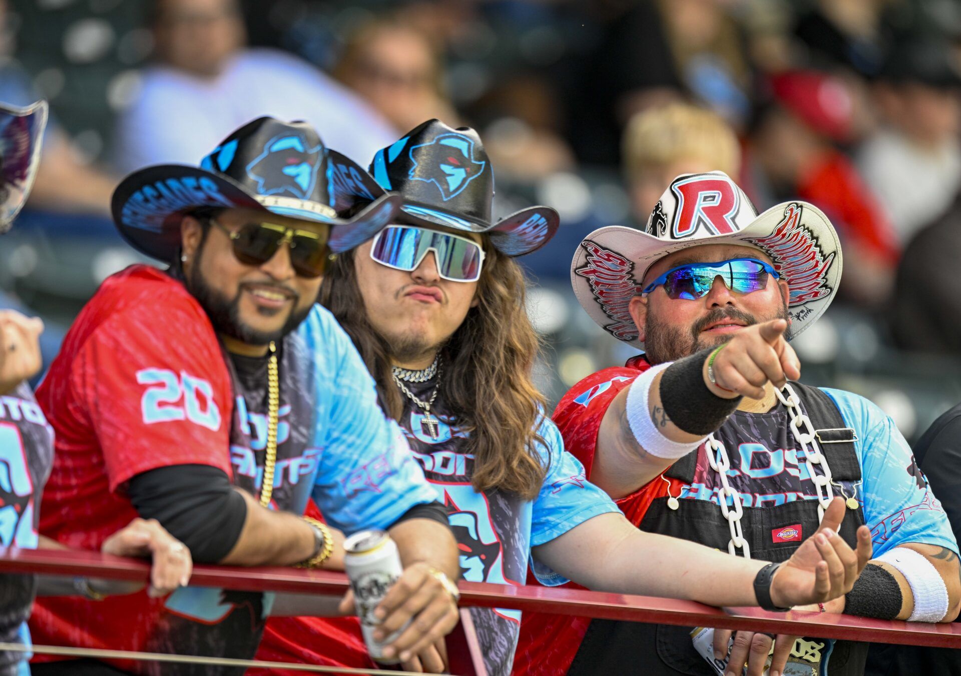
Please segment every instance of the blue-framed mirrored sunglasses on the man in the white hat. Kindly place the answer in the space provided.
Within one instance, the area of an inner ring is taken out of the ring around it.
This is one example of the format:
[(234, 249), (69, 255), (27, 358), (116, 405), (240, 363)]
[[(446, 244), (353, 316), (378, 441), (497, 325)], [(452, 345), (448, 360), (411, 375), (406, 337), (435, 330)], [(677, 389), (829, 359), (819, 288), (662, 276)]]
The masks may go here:
[(780, 278), (773, 266), (756, 258), (731, 258), (716, 263), (688, 263), (671, 268), (644, 287), (649, 294), (663, 285), (672, 299), (694, 301), (711, 290), (716, 278), (722, 278), (727, 288), (739, 294), (750, 294), (768, 285), (768, 276)]

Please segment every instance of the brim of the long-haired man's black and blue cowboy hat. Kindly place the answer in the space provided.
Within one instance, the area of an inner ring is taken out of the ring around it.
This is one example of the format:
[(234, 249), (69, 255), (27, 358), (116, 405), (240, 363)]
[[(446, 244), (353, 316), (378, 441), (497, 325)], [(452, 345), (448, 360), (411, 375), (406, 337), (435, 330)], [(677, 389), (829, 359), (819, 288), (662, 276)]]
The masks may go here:
[[(386, 193), (383, 186), (367, 172), (351, 172), (352, 160), (336, 151), (329, 151), (328, 157), (334, 167), (336, 194), (347, 204), (350, 200), (373, 200)], [(377, 167), (374, 168), (377, 171)], [(384, 174), (385, 176), (385, 174)], [(334, 204), (342, 208), (343, 205)], [(530, 254), (547, 244), (557, 227), (560, 216), (550, 206), (530, 206), (501, 219), (497, 223), (487, 223), (478, 219), (468, 219), (450, 211), (433, 208), (416, 202), (404, 202), (401, 207), (399, 223), (432, 228), (442, 226), (466, 232), (487, 233), (491, 243), (509, 256)]]

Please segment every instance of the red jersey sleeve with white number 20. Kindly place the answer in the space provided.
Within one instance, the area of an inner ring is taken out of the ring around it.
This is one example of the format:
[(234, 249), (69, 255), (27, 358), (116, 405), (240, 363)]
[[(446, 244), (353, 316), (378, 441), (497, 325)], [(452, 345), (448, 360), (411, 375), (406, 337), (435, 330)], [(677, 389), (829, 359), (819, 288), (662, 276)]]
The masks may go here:
[(232, 474), (230, 374), (196, 308), (165, 303), (112, 315), (86, 339), (70, 377), (111, 491), (171, 465)]

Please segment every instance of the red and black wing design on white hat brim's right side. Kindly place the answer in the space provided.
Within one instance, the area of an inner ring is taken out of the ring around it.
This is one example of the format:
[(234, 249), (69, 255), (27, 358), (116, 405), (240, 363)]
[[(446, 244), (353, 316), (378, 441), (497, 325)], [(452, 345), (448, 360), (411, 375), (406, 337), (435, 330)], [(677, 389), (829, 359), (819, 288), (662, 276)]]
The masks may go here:
[[(827, 285), (827, 269), (834, 262), (835, 252), (826, 254), (810, 229), (801, 224), (803, 207), (787, 205), (784, 218), (767, 237), (751, 238), (753, 244), (771, 255), (775, 269), (790, 287), (789, 305), (818, 301), (831, 294)], [(801, 311), (799, 311), (800, 313)], [(792, 319), (801, 320), (803, 316)]]

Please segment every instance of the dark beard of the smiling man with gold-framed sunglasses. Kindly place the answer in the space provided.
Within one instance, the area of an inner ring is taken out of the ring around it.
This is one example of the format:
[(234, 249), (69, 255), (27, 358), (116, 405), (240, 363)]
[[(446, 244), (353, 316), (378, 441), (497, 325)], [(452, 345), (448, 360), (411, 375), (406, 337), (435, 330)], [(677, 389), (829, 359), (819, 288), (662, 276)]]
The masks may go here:
[[(198, 252), (197, 261), (199, 262), (200, 259), (201, 252)], [(260, 283), (259, 285), (262, 286), (263, 284)], [(271, 341), (279, 341), (283, 336), (300, 326), (310, 314), (310, 305), (299, 308), (300, 296), (294, 294), (293, 309), (290, 310), (290, 315), (283, 326), (274, 331), (258, 330), (240, 319), (240, 296), (247, 286), (248, 284), (241, 283), (237, 287), (234, 298), (230, 299), (209, 284), (200, 265), (194, 266), (193, 274), (186, 280), (187, 290), (207, 312), (214, 330), (247, 345), (269, 345)], [(284, 291), (290, 291), (290, 289), (284, 287)], [(261, 315), (270, 316), (275, 314), (277, 310), (261, 307), (258, 312)]]

